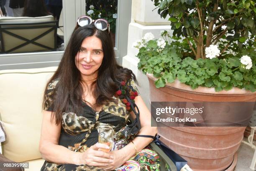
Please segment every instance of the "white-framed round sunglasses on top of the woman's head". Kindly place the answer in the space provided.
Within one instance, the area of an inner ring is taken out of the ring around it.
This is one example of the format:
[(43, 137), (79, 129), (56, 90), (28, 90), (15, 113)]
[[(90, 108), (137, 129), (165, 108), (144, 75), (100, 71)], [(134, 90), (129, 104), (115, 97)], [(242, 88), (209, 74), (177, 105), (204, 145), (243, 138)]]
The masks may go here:
[(94, 23), (95, 27), (99, 30), (105, 31), (108, 29), (108, 33), (110, 32), (110, 24), (108, 23), (107, 20), (103, 19), (103, 18), (99, 18), (97, 20), (92, 20), (92, 18), (90, 18), (87, 15), (81, 16), (77, 19), (77, 27), (81, 26), (87, 26), (90, 25), (91, 23)]

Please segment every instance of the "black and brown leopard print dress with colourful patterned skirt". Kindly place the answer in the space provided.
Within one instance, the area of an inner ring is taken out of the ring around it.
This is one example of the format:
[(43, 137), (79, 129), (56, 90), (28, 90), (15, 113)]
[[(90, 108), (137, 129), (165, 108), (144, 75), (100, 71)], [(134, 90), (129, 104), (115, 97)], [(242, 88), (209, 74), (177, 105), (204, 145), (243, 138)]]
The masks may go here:
[[(53, 90), (58, 83), (57, 80), (52, 81), (46, 90), (46, 100), (44, 110), (52, 111), (53, 99), (51, 98)], [(136, 83), (131, 80), (131, 86), (138, 92)], [(61, 134), (59, 145), (69, 150), (84, 152), (91, 145), (98, 142), (98, 129), (111, 126), (115, 130), (114, 137), (118, 137), (122, 128), (128, 122), (129, 112), (126, 105), (121, 102), (118, 97), (114, 97), (118, 101), (109, 102), (103, 105), (100, 112), (95, 112), (86, 103), (83, 104), (83, 112), (63, 112), (61, 120)], [(118, 138), (114, 142), (112, 150), (119, 150), (129, 143), (125, 138)], [(115, 171), (158, 171), (159, 156), (150, 148), (145, 148), (133, 156), (129, 161), (115, 169)], [(45, 161), (41, 171), (104, 171), (101, 168), (75, 165), (75, 164), (56, 164)]]

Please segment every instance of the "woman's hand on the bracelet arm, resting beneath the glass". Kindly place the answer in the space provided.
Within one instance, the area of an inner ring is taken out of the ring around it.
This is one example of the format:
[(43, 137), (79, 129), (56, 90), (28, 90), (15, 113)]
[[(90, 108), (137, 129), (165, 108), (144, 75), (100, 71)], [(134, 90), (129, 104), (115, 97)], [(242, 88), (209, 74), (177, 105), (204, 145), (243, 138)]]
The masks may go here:
[(109, 163), (108, 166), (100, 167), (105, 169), (106, 171), (115, 170), (115, 168), (120, 167), (126, 161), (125, 155), (122, 150), (110, 151), (109, 154), (114, 157), (113, 162)]

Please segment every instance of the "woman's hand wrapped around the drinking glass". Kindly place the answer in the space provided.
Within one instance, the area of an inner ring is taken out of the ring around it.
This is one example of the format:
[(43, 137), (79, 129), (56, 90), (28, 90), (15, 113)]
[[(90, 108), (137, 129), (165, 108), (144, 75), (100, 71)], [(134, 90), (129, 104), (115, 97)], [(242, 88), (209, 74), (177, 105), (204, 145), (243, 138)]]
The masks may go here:
[(86, 164), (88, 166), (109, 166), (113, 163), (113, 155), (99, 151), (99, 148), (109, 149), (108, 145), (102, 143), (96, 143), (88, 148), (84, 153), (79, 154), (78, 165)]

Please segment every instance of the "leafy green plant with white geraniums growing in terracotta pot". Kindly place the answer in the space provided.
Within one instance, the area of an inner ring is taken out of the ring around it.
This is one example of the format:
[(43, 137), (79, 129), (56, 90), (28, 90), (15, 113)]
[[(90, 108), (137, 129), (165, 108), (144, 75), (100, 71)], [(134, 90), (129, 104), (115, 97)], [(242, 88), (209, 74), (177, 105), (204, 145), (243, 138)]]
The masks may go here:
[(255, 14), (251, 0), (154, 0), (169, 17), (172, 35), (146, 33), (135, 42), (138, 69), (154, 74), (156, 87), (175, 79), (215, 91), (245, 88), (255, 92)]

